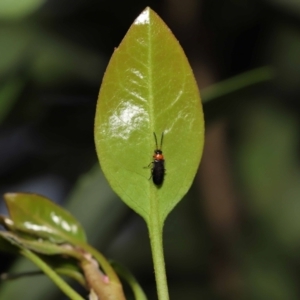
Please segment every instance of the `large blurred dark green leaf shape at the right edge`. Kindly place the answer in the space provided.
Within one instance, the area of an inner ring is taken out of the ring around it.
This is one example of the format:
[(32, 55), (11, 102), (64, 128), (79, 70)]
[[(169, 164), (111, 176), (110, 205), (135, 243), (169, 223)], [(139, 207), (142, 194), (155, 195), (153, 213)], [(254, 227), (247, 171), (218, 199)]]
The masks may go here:
[[(274, 102), (274, 101), (273, 101)], [(275, 105), (252, 105), (241, 116), (239, 177), (249, 197), (248, 209), (266, 225), (282, 249), (298, 255), (300, 246), (299, 130), (295, 116)]]

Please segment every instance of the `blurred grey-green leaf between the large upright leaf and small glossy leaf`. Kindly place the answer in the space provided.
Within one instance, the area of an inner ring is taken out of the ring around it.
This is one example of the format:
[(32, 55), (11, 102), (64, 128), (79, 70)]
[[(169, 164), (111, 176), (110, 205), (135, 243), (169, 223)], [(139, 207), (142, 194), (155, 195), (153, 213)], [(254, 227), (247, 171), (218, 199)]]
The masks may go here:
[(120, 220), (128, 211), (109, 187), (99, 164), (79, 178), (66, 202), (66, 208), (78, 217), (90, 244), (99, 246), (113, 238)]

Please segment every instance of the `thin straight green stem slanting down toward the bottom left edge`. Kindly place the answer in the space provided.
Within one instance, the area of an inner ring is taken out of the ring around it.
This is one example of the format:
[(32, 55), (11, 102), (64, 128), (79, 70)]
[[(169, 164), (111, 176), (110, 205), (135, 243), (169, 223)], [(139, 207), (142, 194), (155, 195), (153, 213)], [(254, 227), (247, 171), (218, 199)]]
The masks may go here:
[(36, 264), (64, 293), (72, 300), (84, 300), (55, 271), (53, 271), (39, 256), (22, 249), (21, 254)]

